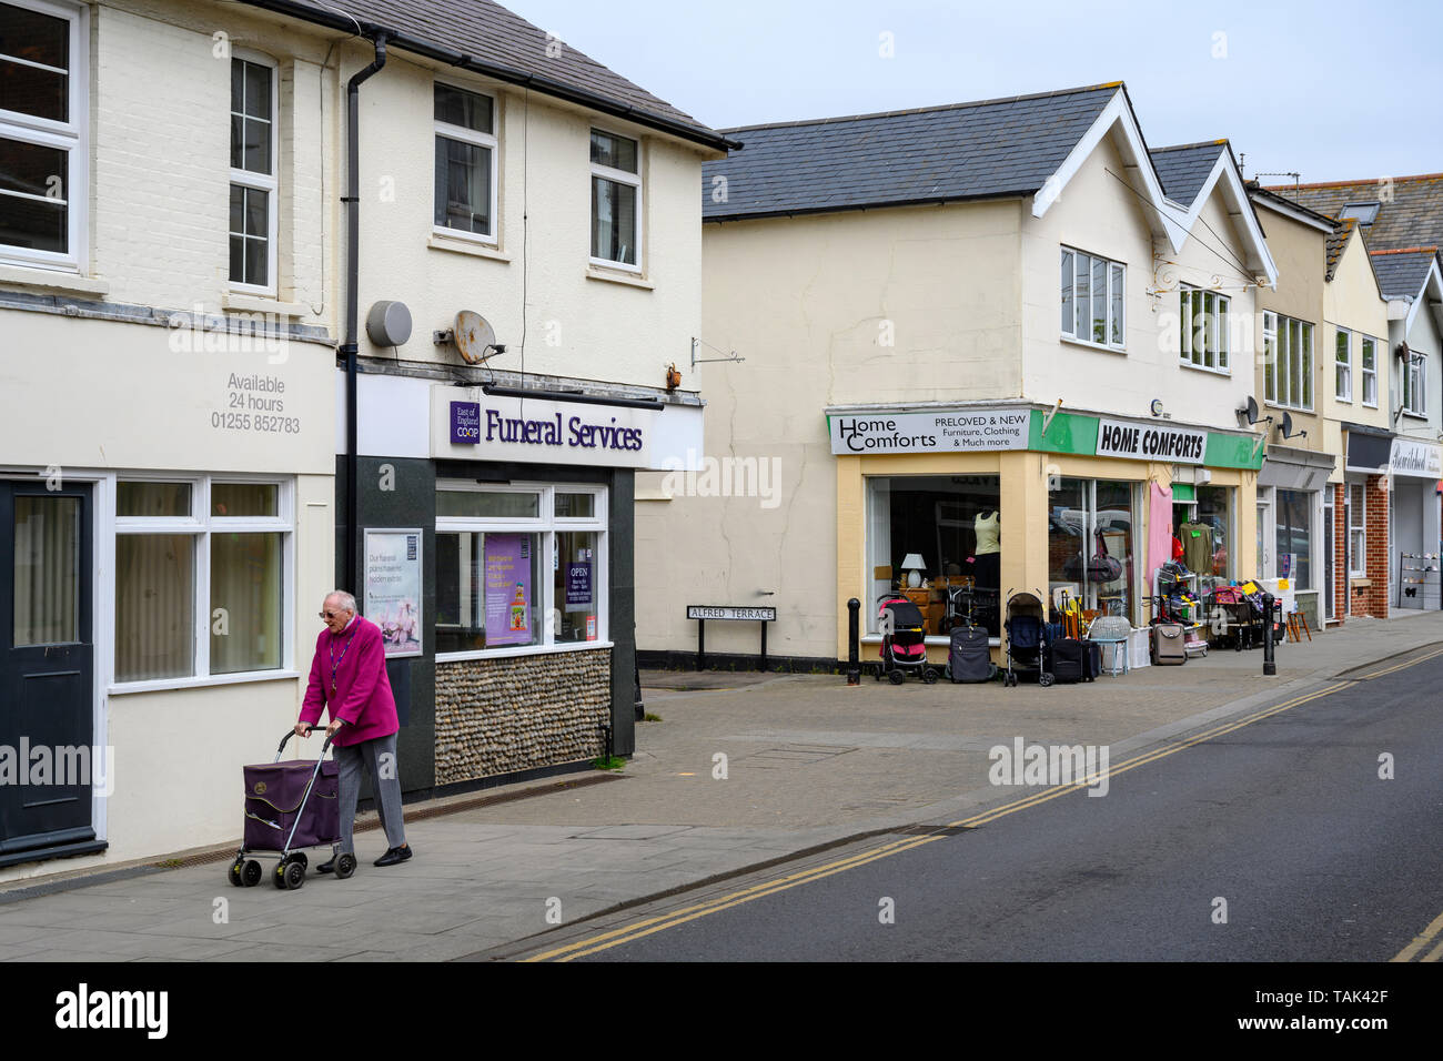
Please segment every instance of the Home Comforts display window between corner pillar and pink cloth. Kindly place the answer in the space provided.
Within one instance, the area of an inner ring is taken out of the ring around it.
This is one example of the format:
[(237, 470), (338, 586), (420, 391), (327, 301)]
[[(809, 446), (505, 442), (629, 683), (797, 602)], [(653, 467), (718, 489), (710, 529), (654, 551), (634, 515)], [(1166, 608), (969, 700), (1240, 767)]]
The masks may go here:
[(1082, 608), (1131, 618), (1134, 488), (1059, 476), (1048, 492), (1048, 590)]

